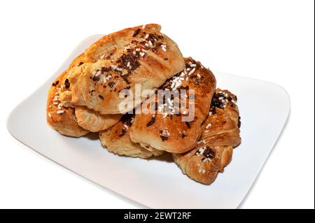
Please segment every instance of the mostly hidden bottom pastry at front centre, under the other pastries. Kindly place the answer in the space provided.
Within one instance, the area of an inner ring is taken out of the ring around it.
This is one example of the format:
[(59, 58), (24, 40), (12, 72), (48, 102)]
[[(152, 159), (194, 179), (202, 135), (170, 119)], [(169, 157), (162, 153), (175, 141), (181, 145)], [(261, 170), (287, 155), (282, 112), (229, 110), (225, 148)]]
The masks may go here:
[(141, 147), (139, 143), (133, 143), (130, 140), (128, 131), (132, 125), (133, 115), (124, 115), (118, 124), (110, 129), (99, 132), (99, 138), (102, 145), (115, 154), (128, 157), (149, 158), (160, 156), (164, 151), (155, 150), (149, 147)]

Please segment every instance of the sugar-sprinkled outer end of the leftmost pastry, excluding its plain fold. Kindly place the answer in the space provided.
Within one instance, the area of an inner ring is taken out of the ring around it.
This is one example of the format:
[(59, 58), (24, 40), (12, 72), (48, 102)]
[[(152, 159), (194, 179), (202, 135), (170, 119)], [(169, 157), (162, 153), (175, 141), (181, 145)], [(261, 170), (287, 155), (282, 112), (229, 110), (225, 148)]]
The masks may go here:
[(65, 107), (60, 101), (61, 89), (64, 88), (64, 75), (62, 73), (53, 83), (48, 91), (48, 100), (46, 106), (46, 119), (50, 126), (66, 136), (80, 137), (89, 131), (83, 129), (76, 122), (74, 108)]

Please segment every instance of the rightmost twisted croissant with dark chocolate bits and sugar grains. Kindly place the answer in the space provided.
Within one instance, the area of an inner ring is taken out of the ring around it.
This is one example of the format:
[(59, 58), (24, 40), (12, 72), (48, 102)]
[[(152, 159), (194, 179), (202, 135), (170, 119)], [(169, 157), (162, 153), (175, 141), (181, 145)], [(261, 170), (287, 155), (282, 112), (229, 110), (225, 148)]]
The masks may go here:
[(209, 117), (202, 124), (202, 136), (196, 148), (183, 154), (172, 154), (181, 171), (197, 182), (210, 185), (232, 159), (233, 147), (241, 143), (237, 96), (216, 89)]

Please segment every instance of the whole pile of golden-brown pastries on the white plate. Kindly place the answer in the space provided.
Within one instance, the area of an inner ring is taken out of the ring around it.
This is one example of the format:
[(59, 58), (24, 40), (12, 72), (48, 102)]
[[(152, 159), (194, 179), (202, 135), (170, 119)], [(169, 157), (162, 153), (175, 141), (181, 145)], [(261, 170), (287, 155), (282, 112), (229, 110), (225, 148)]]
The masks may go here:
[[(160, 29), (127, 28), (90, 45), (52, 82), (47, 122), (65, 136), (97, 132), (114, 154), (170, 153), (184, 174), (210, 185), (241, 143), (237, 96), (216, 88), (214, 74)], [(160, 90), (185, 93), (161, 99)]]

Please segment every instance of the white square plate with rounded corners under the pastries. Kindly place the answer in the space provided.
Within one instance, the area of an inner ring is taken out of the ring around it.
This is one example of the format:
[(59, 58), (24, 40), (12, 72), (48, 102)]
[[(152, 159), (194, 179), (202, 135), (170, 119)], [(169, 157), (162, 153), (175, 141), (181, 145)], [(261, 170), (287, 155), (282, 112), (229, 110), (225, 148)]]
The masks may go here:
[(269, 82), (214, 72), (218, 87), (238, 96), (242, 143), (216, 181), (190, 180), (170, 157), (137, 159), (107, 152), (97, 138), (70, 138), (45, 122), (48, 89), (59, 73), (102, 35), (85, 38), (60, 69), (8, 118), (18, 141), (71, 171), (150, 208), (237, 208), (253, 185), (290, 112), (286, 91)]

